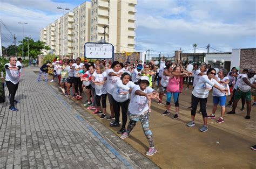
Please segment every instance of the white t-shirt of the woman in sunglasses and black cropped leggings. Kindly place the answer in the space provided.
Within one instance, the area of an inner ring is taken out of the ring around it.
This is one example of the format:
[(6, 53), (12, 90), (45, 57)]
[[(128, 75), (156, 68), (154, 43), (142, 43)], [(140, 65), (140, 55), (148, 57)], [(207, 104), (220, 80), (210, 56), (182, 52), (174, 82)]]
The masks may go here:
[(212, 78), (209, 80), (207, 75), (203, 75), (198, 80), (196, 87), (194, 87), (192, 91), (192, 94), (198, 98), (207, 98), (209, 91), (212, 89), (214, 84), (221, 86), (215, 79)]

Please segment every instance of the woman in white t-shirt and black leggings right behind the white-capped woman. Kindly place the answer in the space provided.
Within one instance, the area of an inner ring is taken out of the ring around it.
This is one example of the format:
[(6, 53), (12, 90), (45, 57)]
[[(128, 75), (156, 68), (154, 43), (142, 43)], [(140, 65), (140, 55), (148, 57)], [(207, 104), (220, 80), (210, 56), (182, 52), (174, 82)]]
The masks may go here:
[(120, 80), (117, 80), (114, 85), (113, 91), (113, 108), (114, 108), (114, 118), (115, 121), (110, 123), (110, 126), (120, 126), (119, 117), (120, 117), (120, 107), (122, 108), (122, 128), (118, 133), (122, 134), (125, 132), (125, 125), (127, 122), (127, 111), (128, 105), (130, 102), (130, 91), (134, 86), (133, 82), (130, 81), (130, 74), (125, 72), (121, 75)]

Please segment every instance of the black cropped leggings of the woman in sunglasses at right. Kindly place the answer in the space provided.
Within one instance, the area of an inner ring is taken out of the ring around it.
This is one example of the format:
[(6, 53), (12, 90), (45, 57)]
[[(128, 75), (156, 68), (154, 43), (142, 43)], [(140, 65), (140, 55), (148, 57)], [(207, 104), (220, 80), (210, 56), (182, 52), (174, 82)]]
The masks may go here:
[(207, 112), (206, 112), (207, 97), (206, 98), (198, 98), (198, 97), (194, 96), (193, 94), (192, 94), (191, 115), (196, 116), (198, 102), (200, 102), (200, 111), (201, 111), (203, 117), (207, 117)]

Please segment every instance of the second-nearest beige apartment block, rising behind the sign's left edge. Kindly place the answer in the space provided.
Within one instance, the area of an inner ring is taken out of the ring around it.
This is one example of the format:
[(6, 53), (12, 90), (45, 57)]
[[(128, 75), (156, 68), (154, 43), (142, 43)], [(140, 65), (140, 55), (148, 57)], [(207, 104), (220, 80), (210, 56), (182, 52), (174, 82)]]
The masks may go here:
[(73, 56), (84, 56), (84, 44), (90, 41), (91, 3), (84, 2), (73, 9)]

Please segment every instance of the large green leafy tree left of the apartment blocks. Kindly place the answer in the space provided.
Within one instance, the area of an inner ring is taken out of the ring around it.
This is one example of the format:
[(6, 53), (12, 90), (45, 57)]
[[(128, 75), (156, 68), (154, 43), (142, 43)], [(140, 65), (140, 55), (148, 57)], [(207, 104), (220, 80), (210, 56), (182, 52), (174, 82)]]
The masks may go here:
[[(37, 58), (37, 55), (42, 54), (42, 49), (50, 50), (49, 46), (46, 46), (43, 41), (37, 40), (34, 41), (32, 38), (25, 37), (23, 39), (24, 41), (24, 56), (28, 56), (28, 44), (29, 44), (29, 57), (32, 57), (33, 59)], [(28, 43), (29, 42), (29, 43)], [(18, 55), (22, 55), (22, 41), (19, 41), (21, 43), (18, 46)]]

